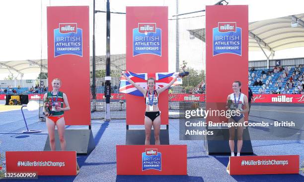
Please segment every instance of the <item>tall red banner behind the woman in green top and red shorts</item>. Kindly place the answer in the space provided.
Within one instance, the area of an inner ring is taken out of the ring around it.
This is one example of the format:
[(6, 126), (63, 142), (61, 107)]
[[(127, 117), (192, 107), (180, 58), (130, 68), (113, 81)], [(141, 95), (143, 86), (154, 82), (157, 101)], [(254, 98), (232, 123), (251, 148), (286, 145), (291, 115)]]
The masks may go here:
[(62, 81), (60, 91), (68, 96), (66, 125), (89, 125), (90, 65), (89, 7), (47, 7), (48, 80)]

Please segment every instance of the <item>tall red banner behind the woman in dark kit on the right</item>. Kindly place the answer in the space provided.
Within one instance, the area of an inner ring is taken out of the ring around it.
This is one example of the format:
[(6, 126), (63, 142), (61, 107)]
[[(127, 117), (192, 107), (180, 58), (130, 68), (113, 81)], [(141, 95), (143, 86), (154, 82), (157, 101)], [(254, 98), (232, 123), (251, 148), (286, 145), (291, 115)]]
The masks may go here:
[(248, 96), (248, 5), (206, 6), (206, 109), (225, 109), (233, 81)]

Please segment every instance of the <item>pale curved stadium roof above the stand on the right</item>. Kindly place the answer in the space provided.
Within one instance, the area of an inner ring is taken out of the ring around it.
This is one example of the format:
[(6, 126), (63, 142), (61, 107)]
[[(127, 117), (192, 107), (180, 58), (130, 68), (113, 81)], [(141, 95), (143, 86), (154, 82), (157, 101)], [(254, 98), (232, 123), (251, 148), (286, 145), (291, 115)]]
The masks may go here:
[[(295, 21), (298, 26), (292, 27)], [(261, 51), (260, 46), (271, 52), (304, 47), (304, 13), (249, 22), (248, 30), (249, 51)], [(188, 31), (205, 42), (205, 28)]]

